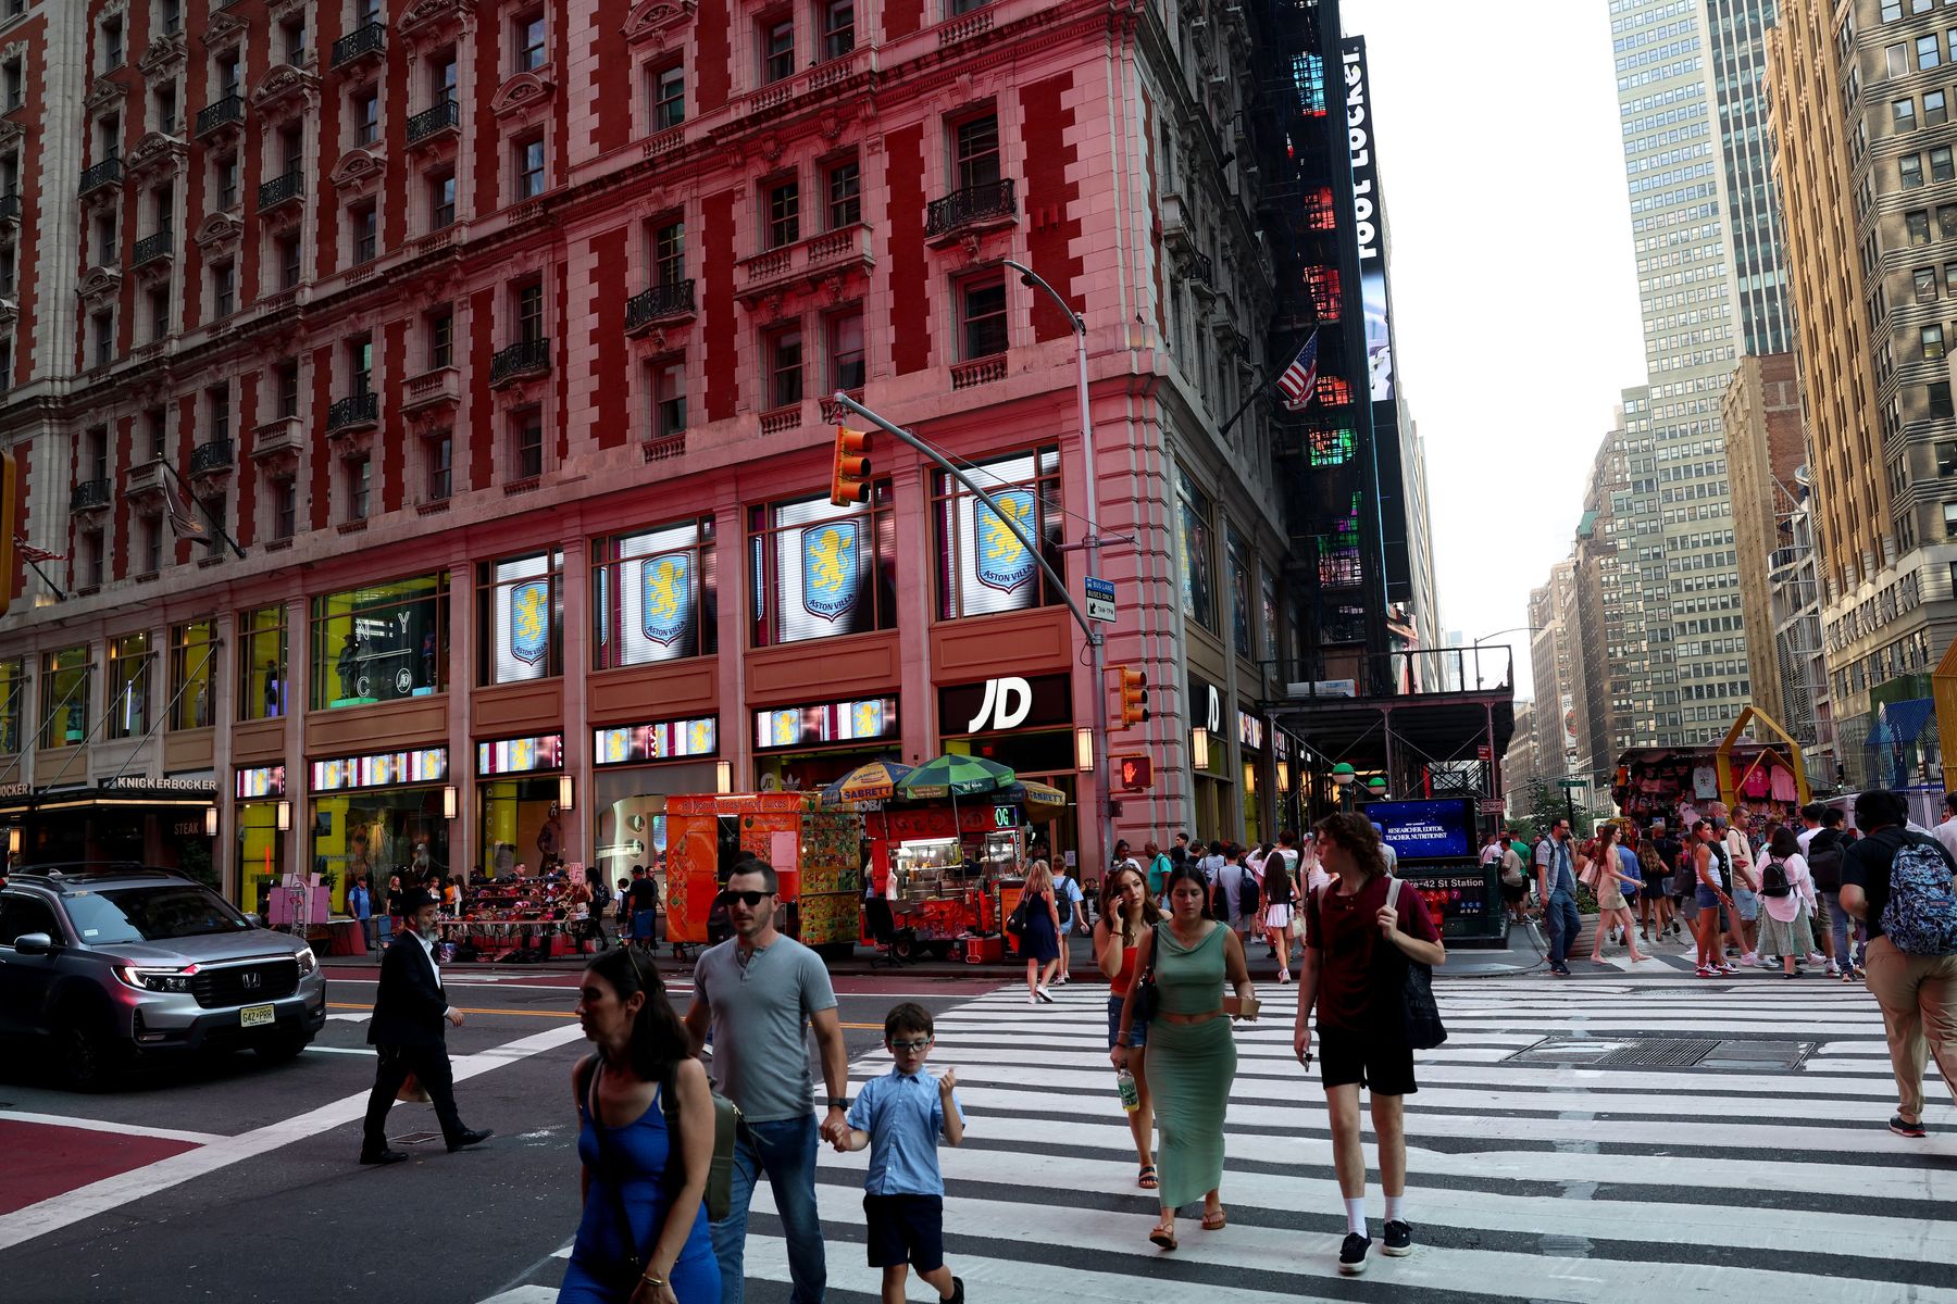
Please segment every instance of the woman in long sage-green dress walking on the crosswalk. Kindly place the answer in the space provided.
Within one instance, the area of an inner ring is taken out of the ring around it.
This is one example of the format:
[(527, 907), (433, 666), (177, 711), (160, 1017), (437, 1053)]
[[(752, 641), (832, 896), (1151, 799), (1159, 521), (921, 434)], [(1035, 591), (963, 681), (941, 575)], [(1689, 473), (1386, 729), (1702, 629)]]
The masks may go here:
[[(1237, 1077), (1237, 1042), (1231, 1019), (1256, 1019), (1256, 991), (1243, 958), (1243, 940), (1209, 917), (1209, 884), (1192, 864), (1168, 872), (1168, 919), (1143, 933), (1135, 950), (1135, 970), (1155, 972), (1155, 1009), (1149, 1013), (1149, 1093), (1155, 1097), (1155, 1126), (1161, 1136), (1162, 1218), (1149, 1239), (1162, 1249), (1176, 1247), (1176, 1208), (1196, 1198), (1204, 1202), (1204, 1232), (1225, 1224), (1223, 1200), (1223, 1110)], [(1229, 979), (1235, 997), (1223, 997)], [(1127, 1064), (1127, 1028), (1135, 1026), (1135, 1003), (1143, 983), (1127, 989), (1115, 1042), (1115, 1067)], [(1225, 1013), (1227, 1011), (1227, 1013)]]

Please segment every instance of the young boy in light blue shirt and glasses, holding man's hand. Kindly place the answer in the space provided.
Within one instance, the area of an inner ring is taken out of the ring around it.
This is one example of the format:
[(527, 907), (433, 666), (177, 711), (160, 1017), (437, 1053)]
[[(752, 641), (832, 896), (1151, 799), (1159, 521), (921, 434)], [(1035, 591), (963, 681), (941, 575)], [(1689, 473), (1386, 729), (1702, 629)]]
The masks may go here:
[(904, 1001), (883, 1021), (883, 1044), (896, 1067), (863, 1083), (849, 1107), (849, 1134), (836, 1150), (869, 1148), (863, 1216), (869, 1265), (883, 1269), (885, 1304), (904, 1304), (910, 1269), (937, 1288), (943, 1304), (965, 1304), (965, 1282), (945, 1267), (945, 1179), (937, 1173), (937, 1138), (965, 1140), (957, 1069), (924, 1071), (935, 1040), (932, 1011)]

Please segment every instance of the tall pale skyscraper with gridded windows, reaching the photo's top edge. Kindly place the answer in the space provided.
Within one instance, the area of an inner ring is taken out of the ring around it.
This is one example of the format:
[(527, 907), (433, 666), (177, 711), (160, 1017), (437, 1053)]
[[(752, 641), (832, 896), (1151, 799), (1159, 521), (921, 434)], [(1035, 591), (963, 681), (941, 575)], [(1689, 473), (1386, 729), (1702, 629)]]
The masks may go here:
[(1791, 340), (1765, 131), (1763, 33), (1777, 4), (1609, 6), (1650, 381), (1650, 438), (1626, 475), (1656, 500), (1634, 510), (1656, 506), (1663, 565), (1661, 606), (1648, 612), (1648, 737), (1705, 743), (1750, 696), (1744, 653), (1707, 651), (1689, 633), (1740, 616), (1720, 395), (1740, 354)]

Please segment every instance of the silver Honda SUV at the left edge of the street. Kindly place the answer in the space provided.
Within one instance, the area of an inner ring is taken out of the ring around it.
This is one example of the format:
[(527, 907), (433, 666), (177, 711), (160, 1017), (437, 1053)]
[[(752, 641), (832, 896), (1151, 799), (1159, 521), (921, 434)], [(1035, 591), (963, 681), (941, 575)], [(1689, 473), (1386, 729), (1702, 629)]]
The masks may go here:
[(53, 1048), (70, 1087), (166, 1052), (284, 1060), (325, 1022), (313, 948), (176, 870), (29, 868), (0, 888), (0, 1038)]

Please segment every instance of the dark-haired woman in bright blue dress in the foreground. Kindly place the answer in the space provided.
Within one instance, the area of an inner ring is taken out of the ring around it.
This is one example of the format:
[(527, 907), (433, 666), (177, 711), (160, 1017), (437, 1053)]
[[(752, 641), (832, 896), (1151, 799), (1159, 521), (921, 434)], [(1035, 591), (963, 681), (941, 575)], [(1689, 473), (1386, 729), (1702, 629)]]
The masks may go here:
[(597, 1054), (571, 1069), (585, 1216), (558, 1304), (718, 1304), (703, 1198), (714, 1105), (652, 960), (630, 946), (593, 960), (577, 1019)]

